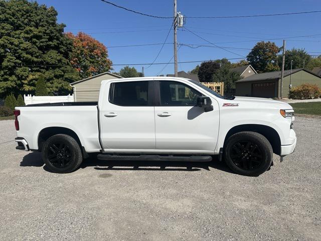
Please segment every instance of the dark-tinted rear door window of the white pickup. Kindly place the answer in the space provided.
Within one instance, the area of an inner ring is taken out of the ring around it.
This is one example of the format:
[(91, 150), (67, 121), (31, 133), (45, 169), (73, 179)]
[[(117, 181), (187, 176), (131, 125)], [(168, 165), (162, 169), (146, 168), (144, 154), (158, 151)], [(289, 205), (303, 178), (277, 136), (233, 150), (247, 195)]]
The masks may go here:
[(148, 81), (112, 83), (109, 102), (117, 105), (148, 105)]

